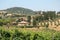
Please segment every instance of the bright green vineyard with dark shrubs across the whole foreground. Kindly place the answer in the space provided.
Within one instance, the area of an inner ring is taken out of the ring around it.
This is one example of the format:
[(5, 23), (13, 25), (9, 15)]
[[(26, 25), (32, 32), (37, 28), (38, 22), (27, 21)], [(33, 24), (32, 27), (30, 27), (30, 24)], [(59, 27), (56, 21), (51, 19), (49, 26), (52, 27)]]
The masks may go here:
[(60, 32), (50, 29), (29, 30), (0, 27), (0, 40), (60, 40)]

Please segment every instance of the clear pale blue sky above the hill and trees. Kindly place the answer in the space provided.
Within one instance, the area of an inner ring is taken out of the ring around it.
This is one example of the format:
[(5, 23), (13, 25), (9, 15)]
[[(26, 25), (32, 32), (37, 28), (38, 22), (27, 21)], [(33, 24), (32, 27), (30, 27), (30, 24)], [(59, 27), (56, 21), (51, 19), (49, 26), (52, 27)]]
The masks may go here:
[(60, 0), (0, 0), (0, 10), (24, 7), (34, 11), (60, 11)]

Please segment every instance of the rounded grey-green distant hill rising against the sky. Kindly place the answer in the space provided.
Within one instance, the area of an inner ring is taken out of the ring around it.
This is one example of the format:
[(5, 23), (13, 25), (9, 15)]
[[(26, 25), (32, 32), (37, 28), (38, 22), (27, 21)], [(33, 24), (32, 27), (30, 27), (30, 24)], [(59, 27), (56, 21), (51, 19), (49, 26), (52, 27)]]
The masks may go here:
[(8, 13), (16, 13), (16, 14), (27, 14), (27, 15), (35, 14), (33, 10), (22, 7), (12, 7), (6, 9), (5, 11), (7, 11)]

